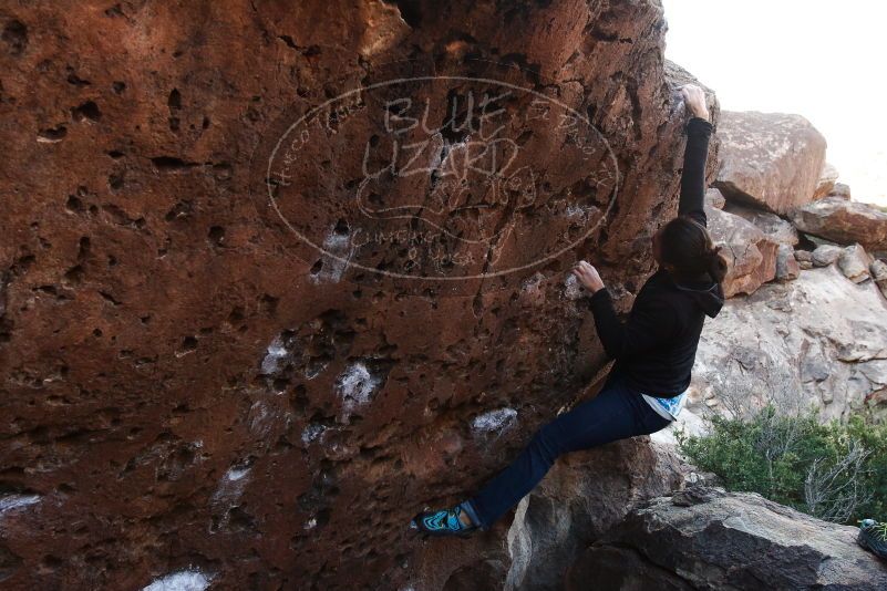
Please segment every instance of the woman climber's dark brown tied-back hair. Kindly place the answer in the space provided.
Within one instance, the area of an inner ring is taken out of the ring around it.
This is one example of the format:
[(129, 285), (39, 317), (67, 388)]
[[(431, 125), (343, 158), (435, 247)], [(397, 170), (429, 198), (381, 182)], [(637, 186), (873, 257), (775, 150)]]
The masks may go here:
[(716, 282), (726, 276), (726, 259), (714, 246), (709, 230), (689, 216), (678, 216), (660, 236), (662, 262), (674, 267), (677, 280), (687, 280), (708, 271)]

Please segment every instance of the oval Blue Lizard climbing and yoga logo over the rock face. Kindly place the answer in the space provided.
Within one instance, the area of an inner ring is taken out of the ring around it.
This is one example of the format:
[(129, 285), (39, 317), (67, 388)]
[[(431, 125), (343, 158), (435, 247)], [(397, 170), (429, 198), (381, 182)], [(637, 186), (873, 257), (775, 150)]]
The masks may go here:
[(587, 116), (470, 76), (339, 94), (286, 128), (265, 173), (268, 205), (333, 279), (352, 268), (424, 281), (532, 269), (588, 239), (618, 186), (616, 156)]

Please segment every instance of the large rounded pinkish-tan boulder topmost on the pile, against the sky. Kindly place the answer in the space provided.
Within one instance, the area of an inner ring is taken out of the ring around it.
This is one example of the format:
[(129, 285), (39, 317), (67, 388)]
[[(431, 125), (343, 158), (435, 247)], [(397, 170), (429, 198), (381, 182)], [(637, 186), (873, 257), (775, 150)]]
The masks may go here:
[(811, 201), (825, 163), (825, 138), (801, 115), (724, 111), (715, 186), (728, 199), (784, 215)]

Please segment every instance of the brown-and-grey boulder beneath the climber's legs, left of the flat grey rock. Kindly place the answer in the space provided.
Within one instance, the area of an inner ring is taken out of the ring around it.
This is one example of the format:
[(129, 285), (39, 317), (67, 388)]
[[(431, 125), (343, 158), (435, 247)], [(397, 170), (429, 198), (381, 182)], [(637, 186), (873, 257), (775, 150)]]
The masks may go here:
[[(575, 558), (621, 521), (633, 502), (710, 480), (711, 475), (682, 462), (673, 446), (647, 436), (567, 454), (518, 502), (514, 518), (496, 528), (498, 543), (483, 537), (430, 540), (409, 567), (412, 579), (422, 582), (414, 588), (559, 590)], [(494, 584), (491, 572), (498, 572)]]

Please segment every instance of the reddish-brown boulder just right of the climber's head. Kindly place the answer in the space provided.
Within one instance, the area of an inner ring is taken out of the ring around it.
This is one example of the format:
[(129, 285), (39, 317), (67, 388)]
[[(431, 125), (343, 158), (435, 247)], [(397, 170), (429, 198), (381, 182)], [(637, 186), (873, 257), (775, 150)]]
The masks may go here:
[(705, 215), (712, 240), (723, 247), (721, 253), (728, 262), (723, 280), (726, 298), (753, 293), (776, 277), (776, 240), (735, 214), (706, 206)]

